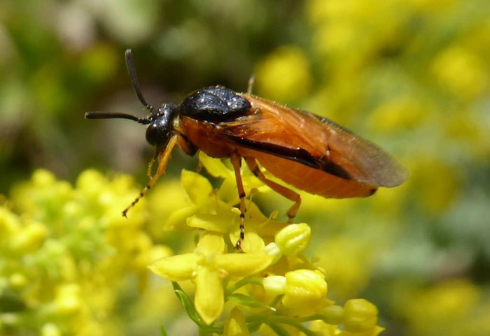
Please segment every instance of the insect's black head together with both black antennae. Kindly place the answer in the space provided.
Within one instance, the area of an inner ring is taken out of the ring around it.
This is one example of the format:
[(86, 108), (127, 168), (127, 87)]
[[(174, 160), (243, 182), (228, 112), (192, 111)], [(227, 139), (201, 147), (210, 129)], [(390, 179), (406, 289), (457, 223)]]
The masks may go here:
[(165, 149), (170, 138), (174, 135), (173, 119), (179, 113), (179, 105), (163, 104), (161, 108), (155, 110), (152, 105), (148, 104), (141, 93), (136, 71), (134, 71), (131, 50), (126, 50), (125, 53), (127, 71), (130, 73), (134, 91), (136, 92), (139, 101), (145, 106), (146, 110), (150, 111), (148, 117), (137, 117), (127, 113), (118, 112), (86, 112), (87, 119), (130, 119), (140, 124), (148, 125), (146, 129), (146, 140), (150, 145), (155, 147), (157, 151)]

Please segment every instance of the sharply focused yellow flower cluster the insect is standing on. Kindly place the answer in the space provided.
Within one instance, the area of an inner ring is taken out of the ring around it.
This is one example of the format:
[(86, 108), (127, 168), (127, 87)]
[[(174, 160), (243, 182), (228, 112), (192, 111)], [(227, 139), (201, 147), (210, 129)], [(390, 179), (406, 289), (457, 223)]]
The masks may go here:
[[(174, 282), (186, 311), (203, 332), (377, 335), (383, 330), (370, 302), (349, 300), (341, 307), (328, 300), (324, 272), (303, 254), (311, 238), (307, 224), (285, 224), (276, 221), (275, 214), (265, 217), (248, 199), (243, 251), (237, 251), (233, 170), (202, 153), (200, 160), (211, 175), (224, 178), (223, 184), (213, 189), (202, 175), (183, 170), (181, 181), (190, 205), (174, 212), (165, 224), (167, 230), (200, 229), (197, 246), (190, 253), (161, 258), (149, 268)], [(246, 168), (242, 177), (249, 195), (267, 190)], [(185, 280), (195, 284), (194, 304), (176, 284)], [(220, 319), (223, 315), (228, 317)]]

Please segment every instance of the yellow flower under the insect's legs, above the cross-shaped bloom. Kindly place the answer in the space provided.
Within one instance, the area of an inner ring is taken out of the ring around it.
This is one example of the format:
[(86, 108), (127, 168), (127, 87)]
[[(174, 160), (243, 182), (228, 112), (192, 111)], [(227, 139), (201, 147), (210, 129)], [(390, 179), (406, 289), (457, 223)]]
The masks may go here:
[[(235, 173), (223, 162), (200, 154), (204, 168), (211, 175), (224, 178), (218, 190), (214, 190), (209, 180), (202, 175), (182, 170), (181, 182), (190, 200), (190, 205), (172, 213), (165, 223), (168, 231), (189, 231), (190, 228), (202, 229), (229, 235), (230, 246), (239, 240), (239, 203)], [(242, 168), (242, 180), (247, 195), (265, 191), (265, 187), (251, 172)], [(265, 249), (265, 240), (270, 242), (275, 233), (286, 226), (279, 221), (265, 217), (251, 201), (246, 201), (245, 239), (241, 249), (245, 252), (258, 252)]]

